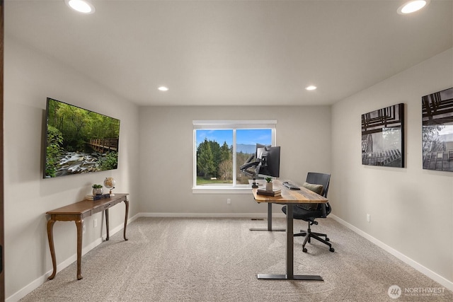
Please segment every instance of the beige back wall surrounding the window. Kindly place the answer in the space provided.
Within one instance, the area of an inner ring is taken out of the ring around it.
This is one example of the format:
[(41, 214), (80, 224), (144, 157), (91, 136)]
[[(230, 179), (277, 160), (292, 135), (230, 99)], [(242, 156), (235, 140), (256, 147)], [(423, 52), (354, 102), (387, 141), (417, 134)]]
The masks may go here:
[[(277, 120), (280, 179), (330, 172), (330, 107), (140, 108), (139, 211), (151, 214), (265, 214), (251, 194), (193, 194), (193, 120)], [(152, 185), (149, 185), (152, 184)], [(226, 199), (231, 204), (226, 204)], [(282, 213), (276, 207), (276, 213)]]

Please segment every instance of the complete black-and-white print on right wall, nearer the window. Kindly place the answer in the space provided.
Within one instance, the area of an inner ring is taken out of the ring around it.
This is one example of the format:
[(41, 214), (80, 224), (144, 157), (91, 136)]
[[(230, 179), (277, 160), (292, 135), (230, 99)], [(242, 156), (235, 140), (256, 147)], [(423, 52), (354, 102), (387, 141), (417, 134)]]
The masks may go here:
[(404, 168), (404, 104), (362, 115), (362, 165)]

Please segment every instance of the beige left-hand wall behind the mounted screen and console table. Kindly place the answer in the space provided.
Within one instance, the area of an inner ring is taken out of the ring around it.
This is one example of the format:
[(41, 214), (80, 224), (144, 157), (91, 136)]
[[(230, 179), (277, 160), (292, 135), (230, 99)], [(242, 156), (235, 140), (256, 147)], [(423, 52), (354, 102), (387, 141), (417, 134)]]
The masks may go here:
[[(4, 45), (5, 283), (6, 297), (11, 297), (51, 272), (46, 211), (78, 202), (91, 192), (93, 183), (112, 176), (116, 192), (131, 193), (130, 217), (137, 214), (138, 108), (55, 59), (8, 37)], [(47, 97), (121, 120), (117, 170), (42, 179)], [(93, 217), (103, 221), (101, 213), (85, 220), (84, 247), (101, 238), (101, 223), (93, 228)], [(110, 209), (111, 229), (123, 221), (124, 206)], [(57, 264), (74, 257), (75, 223), (55, 223), (54, 236)]]

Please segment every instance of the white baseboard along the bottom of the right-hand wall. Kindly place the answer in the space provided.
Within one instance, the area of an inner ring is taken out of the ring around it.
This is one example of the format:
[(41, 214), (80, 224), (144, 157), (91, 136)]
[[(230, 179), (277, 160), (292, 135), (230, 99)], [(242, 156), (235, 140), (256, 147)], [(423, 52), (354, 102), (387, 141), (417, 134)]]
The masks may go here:
[(352, 226), (352, 224), (344, 221), (343, 219), (340, 219), (338, 216), (330, 214), (329, 217), (331, 217), (332, 219), (343, 224), (343, 226), (349, 228), (351, 231), (354, 231), (355, 233), (359, 234), (360, 236), (369, 240), (370, 242), (374, 243), (375, 245), (379, 246), (379, 248), (382, 248), (386, 252), (389, 252), (391, 255), (394, 255), (399, 260), (403, 261), (407, 265), (410, 265), (414, 269), (418, 270), (418, 272), (425, 274), (426, 277), (436, 281), (437, 283), (441, 284), (442, 286), (445, 286), (446, 289), (453, 291), (453, 282), (452, 281), (445, 279), (444, 277), (440, 276), (440, 274), (432, 272), (432, 270), (428, 269), (428, 267), (424, 267), (423, 265), (420, 265), (420, 263), (412, 260), (411, 258), (407, 257), (406, 255), (403, 255), (401, 252), (398, 252), (398, 250), (391, 248), (389, 245), (386, 245), (382, 241), (374, 238), (373, 236), (370, 236), (368, 233), (365, 233), (364, 231), (360, 230), (360, 228), (356, 228), (355, 226)]

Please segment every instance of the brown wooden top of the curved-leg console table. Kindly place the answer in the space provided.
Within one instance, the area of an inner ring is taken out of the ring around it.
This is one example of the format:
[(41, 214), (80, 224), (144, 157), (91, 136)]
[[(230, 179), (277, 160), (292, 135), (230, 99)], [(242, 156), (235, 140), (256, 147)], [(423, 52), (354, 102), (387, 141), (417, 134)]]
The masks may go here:
[(111, 203), (117, 203), (117, 202), (122, 202), (123, 200), (126, 199), (126, 196), (129, 194), (124, 194), (124, 193), (115, 193), (115, 196), (112, 196), (110, 198), (103, 198), (103, 199), (98, 199), (98, 200), (82, 200), (81, 202), (76, 202), (75, 204), (69, 204), (67, 206), (58, 208), (58, 209), (53, 209), (52, 211), (47, 211), (46, 214), (57, 214), (57, 215), (82, 215), (85, 216), (84, 214), (88, 214), (86, 216), (89, 216), (89, 214), (92, 214), (92, 211), (94, 212), (102, 211), (106, 207), (109, 206)]

